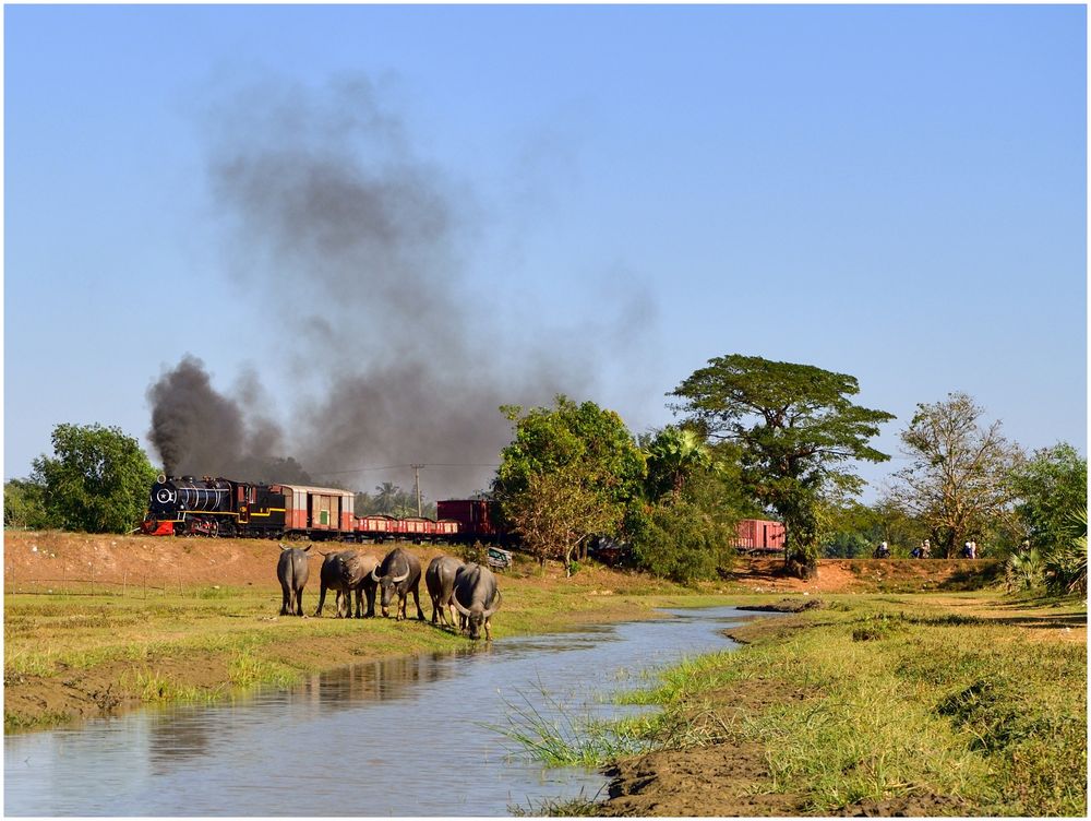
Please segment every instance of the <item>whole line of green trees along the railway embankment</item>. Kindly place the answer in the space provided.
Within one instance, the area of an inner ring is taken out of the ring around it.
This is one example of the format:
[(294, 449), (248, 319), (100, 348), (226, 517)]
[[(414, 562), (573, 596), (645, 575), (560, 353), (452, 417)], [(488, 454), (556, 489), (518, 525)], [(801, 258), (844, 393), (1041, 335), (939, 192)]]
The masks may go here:
[[(819, 558), (867, 555), (878, 542), (904, 556), (928, 539), (934, 556), (951, 558), (972, 540), (1016, 564), (1036, 556), (1034, 572), (1086, 588), (1087, 459), (1074, 447), (1027, 454), (972, 397), (951, 393), (916, 406), (899, 435), (904, 466), (865, 505), (856, 466), (890, 459), (871, 441), (895, 417), (856, 404), (859, 392), (849, 374), (736, 354), (668, 394), (676, 424), (638, 436), (591, 401), (504, 406), (513, 435), (490, 491), (525, 549), (570, 572), (606, 536), (657, 575), (714, 579), (731, 567), (739, 520), (776, 517), (788, 533), (786, 563), (804, 578)], [(52, 444), (29, 478), (5, 483), (5, 526), (139, 523), (157, 472), (134, 439), (60, 425)], [(391, 483), (357, 503), (360, 513), (416, 513), (416, 498)], [(434, 503), (424, 513), (434, 516)]]

